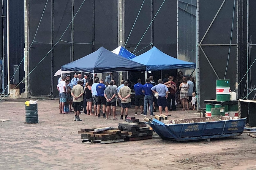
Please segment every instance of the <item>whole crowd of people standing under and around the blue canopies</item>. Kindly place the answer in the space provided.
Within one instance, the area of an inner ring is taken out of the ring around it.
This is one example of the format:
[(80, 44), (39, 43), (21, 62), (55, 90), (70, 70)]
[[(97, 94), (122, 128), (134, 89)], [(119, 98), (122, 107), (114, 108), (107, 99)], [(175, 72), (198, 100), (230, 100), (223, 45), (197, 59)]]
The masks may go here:
[[(177, 104), (181, 104), (182, 110), (185, 110), (186, 104), (187, 110), (189, 110), (189, 103), (191, 103), (192, 109), (195, 110), (195, 80), (194, 77), (187, 79), (188, 77), (184, 77), (181, 71), (178, 72), (175, 81), (173, 81), (173, 76), (166, 74), (163, 80), (158, 80), (158, 84), (154, 82), (153, 76), (149, 76), (144, 85), (141, 84), (139, 78), (138, 83), (133, 86), (135, 115), (138, 115), (138, 109), (140, 109), (140, 115), (147, 116), (147, 111), (149, 111), (150, 116), (154, 116), (156, 105), (160, 115), (165, 114), (166, 116), (170, 116), (168, 111), (176, 110)], [(109, 115), (112, 113), (115, 120), (117, 119), (116, 106), (119, 102), (121, 106), (120, 120), (126, 119), (129, 108), (131, 108), (132, 91), (128, 86), (129, 83), (122, 80), (121, 85), (117, 87), (115, 81), (111, 80), (111, 73), (106, 77), (105, 83), (103, 79), (97, 77), (97, 74), (90, 78), (88, 74), (85, 74), (81, 79), (81, 74), (75, 73), (72, 80), (70, 80), (70, 75), (62, 75), (57, 85), (60, 96), (60, 114), (67, 114), (73, 111), (73, 108), (75, 111), (74, 121), (82, 121), (79, 115), (83, 109), (85, 114), (96, 115), (99, 118), (102, 110), (103, 118), (109, 119)], [(125, 115), (124, 118), (123, 115)]]

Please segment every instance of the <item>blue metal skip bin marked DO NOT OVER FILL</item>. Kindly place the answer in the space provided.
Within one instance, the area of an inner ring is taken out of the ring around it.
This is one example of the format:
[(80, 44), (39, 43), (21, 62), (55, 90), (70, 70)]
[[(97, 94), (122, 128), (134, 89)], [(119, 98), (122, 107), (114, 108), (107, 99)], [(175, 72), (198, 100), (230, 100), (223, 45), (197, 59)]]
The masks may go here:
[(221, 115), (165, 121), (148, 119), (148, 124), (162, 139), (177, 141), (239, 136), (244, 131), (245, 123), (246, 118)]

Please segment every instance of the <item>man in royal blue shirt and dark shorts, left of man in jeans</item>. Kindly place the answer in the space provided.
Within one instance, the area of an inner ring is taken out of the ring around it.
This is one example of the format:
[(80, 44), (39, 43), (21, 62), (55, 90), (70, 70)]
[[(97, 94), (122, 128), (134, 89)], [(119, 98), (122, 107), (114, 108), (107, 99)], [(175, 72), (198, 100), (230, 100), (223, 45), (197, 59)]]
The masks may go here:
[(140, 106), (140, 115), (143, 115), (144, 93), (141, 79), (138, 79), (138, 83), (133, 86), (133, 89), (135, 91), (135, 115), (137, 115), (138, 106)]

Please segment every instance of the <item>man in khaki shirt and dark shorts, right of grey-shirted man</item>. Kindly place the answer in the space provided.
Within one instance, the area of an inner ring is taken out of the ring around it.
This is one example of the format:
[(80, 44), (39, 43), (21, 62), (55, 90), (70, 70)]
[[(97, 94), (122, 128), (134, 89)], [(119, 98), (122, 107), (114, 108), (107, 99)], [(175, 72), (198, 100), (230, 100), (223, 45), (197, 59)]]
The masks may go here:
[(123, 120), (124, 109), (125, 109), (125, 119), (124, 120), (126, 120), (126, 118), (128, 116), (129, 108), (132, 106), (131, 105), (131, 94), (132, 94), (132, 91), (128, 87), (128, 82), (125, 81), (124, 82), (124, 87), (120, 88), (120, 90), (118, 92), (118, 96), (119, 96), (119, 98), (121, 100), (121, 103), (122, 103), (120, 120)]

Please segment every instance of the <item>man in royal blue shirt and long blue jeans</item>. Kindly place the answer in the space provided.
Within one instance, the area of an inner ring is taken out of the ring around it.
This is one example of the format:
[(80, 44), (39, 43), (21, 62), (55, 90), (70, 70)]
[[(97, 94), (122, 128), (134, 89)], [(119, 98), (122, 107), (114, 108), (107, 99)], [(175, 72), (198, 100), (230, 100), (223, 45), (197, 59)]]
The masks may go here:
[(145, 95), (144, 97), (144, 116), (147, 116), (147, 106), (149, 103), (149, 108), (150, 108), (150, 116), (154, 116), (153, 114), (153, 93), (151, 88), (153, 87), (153, 85), (150, 83), (150, 79), (147, 78), (146, 79), (146, 84), (143, 85), (143, 93)]

